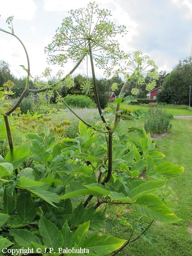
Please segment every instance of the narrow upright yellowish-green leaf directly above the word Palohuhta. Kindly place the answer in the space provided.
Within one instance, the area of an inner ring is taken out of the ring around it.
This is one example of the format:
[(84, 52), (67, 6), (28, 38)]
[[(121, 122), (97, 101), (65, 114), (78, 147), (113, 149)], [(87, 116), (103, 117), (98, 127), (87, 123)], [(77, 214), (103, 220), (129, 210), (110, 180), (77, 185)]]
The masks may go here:
[(85, 237), (87, 236), (87, 232), (89, 230), (90, 221), (85, 222), (81, 226), (79, 226), (73, 236), (73, 239), (71, 240), (71, 245), (74, 246), (77, 244), (78, 246), (81, 246), (83, 244)]

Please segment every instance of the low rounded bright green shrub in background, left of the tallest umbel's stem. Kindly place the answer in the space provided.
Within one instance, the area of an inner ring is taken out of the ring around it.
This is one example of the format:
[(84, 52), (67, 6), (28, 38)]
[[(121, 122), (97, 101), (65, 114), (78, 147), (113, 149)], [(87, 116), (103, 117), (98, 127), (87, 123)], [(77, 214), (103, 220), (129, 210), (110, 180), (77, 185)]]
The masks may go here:
[(68, 105), (75, 108), (96, 108), (96, 104), (93, 102), (93, 100), (85, 95), (68, 94), (66, 97), (64, 97), (64, 100)]

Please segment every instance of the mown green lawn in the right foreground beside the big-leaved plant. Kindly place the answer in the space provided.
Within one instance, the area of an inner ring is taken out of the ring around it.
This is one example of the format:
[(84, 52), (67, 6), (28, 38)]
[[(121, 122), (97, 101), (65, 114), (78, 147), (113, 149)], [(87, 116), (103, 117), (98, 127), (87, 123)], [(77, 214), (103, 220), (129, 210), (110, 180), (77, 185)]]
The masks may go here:
[[(155, 230), (158, 243), (150, 245), (143, 239), (138, 239), (125, 247), (119, 253), (121, 256), (191, 256), (191, 234), (187, 230), (191, 221), (191, 188), (192, 188), (192, 120), (174, 119), (173, 127), (169, 134), (163, 139), (157, 140), (157, 150), (166, 155), (166, 160), (185, 167), (185, 172), (180, 178), (172, 178), (168, 186), (173, 190), (172, 201), (175, 207), (173, 212), (182, 220), (175, 224), (164, 224), (156, 221), (152, 224), (152, 230)], [(134, 125), (133, 121), (123, 121), (124, 131), (129, 126)], [(139, 122), (140, 128), (143, 121)], [(135, 134), (129, 134), (135, 137)], [(137, 136), (134, 140), (137, 140)], [(134, 224), (137, 219), (137, 213), (130, 213), (128, 221)], [(149, 220), (143, 218), (143, 224), (147, 226)], [(108, 230), (113, 236), (127, 239), (130, 230), (119, 224), (116, 228)]]

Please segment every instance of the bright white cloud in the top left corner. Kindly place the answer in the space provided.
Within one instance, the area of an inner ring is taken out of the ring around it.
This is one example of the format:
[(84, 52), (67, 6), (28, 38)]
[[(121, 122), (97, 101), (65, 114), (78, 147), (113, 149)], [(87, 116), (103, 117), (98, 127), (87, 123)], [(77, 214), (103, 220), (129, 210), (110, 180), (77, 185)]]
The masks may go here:
[(32, 20), (37, 6), (33, 0), (6, 0), (1, 1), (0, 15), (3, 18), (14, 15), (18, 20)]

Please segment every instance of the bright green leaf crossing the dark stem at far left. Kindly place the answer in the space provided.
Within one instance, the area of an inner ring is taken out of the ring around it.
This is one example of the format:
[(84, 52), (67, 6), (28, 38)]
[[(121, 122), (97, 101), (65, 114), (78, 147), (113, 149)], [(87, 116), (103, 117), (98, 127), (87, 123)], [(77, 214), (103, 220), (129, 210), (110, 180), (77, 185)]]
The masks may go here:
[(14, 147), (14, 149), (6, 154), (6, 162), (12, 163), (14, 169), (18, 168), (20, 163), (22, 163), (29, 154), (29, 143), (23, 144), (19, 147)]

